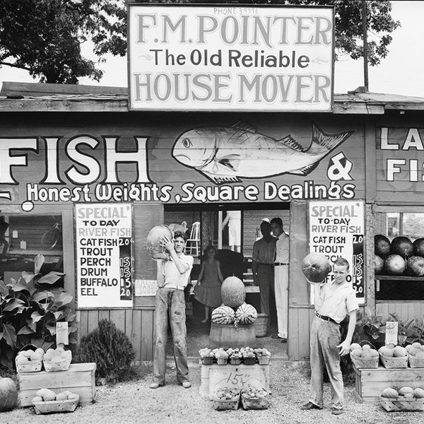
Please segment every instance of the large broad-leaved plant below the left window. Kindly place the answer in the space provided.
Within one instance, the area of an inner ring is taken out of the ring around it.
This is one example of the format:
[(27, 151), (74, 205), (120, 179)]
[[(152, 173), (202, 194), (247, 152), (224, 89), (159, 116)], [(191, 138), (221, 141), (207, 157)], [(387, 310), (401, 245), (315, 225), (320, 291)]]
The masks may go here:
[(23, 271), (16, 281), (0, 281), (0, 364), (13, 367), (21, 347), (32, 343), (43, 349), (54, 344), (56, 323), (68, 322), (69, 343), (76, 343), (76, 315), (71, 310), (72, 296), (61, 288), (47, 290), (64, 273), (40, 273), (42, 254), (34, 259), (34, 273)]

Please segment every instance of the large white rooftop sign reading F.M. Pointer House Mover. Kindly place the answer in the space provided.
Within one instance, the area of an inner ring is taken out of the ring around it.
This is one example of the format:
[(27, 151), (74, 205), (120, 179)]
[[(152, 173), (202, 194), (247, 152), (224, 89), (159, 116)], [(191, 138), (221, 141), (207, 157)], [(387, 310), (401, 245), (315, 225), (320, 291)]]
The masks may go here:
[(330, 112), (333, 14), (129, 4), (129, 107)]

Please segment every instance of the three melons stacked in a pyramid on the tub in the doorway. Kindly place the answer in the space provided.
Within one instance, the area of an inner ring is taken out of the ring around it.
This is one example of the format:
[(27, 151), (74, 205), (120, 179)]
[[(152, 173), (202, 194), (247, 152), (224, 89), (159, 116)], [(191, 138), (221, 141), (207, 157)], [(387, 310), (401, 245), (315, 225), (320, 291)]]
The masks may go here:
[(240, 278), (225, 278), (221, 286), (223, 304), (212, 311), (211, 320), (215, 324), (234, 324), (237, 326), (252, 324), (258, 317), (257, 310), (248, 303), (246, 289)]

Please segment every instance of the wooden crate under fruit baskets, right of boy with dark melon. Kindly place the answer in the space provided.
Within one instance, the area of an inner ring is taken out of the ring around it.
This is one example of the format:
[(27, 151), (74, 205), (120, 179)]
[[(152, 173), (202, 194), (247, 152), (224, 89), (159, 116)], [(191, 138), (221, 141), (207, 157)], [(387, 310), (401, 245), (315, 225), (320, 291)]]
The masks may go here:
[(409, 386), (424, 389), (424, 368), (361, 368), (355, 371), (355, 397), (366, 404), (378, 404), (379, 395), (395, 384), (398, 389)]

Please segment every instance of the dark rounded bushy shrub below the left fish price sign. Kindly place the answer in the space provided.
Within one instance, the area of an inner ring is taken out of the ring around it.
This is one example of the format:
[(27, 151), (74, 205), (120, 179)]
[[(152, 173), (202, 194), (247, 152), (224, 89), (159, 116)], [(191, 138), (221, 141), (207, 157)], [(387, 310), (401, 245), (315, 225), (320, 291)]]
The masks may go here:
[(128, 336), (110, 319), (101, 319), (97, 329), (81, 338), (76, 355), (80, 363), (96, 363), (96, 375), (107, 382), (122, 380), (134, 358), (134, 348)]

